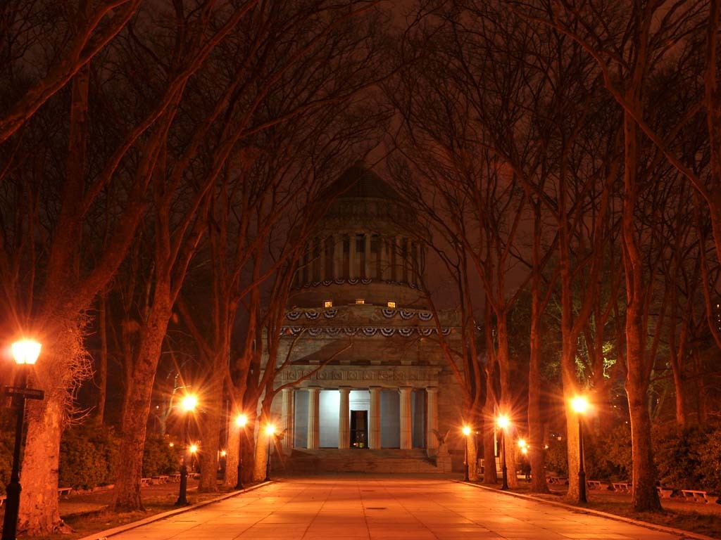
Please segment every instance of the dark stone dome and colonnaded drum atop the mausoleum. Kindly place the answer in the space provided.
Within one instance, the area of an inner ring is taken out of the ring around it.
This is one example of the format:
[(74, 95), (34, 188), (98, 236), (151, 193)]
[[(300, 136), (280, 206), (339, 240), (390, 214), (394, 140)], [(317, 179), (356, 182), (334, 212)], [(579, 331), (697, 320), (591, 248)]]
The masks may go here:
[(332, 197), (309, 240), (288, 307), (426, 307), (425, 247), (402, 197), (363, 163), (327, 189)]

